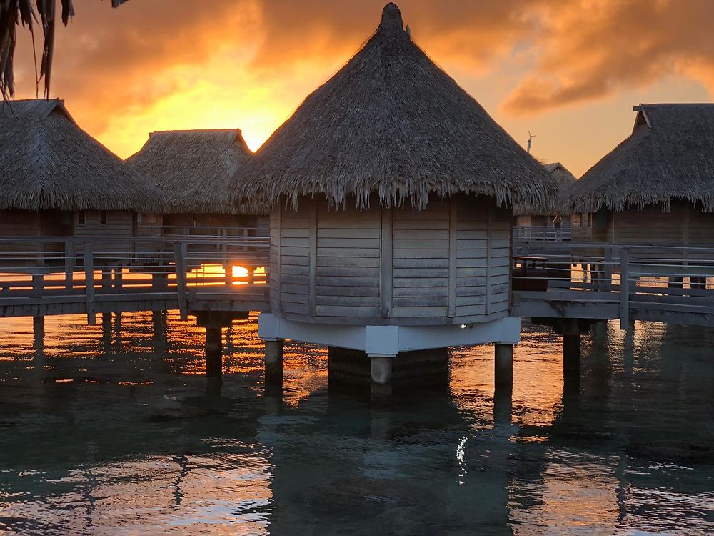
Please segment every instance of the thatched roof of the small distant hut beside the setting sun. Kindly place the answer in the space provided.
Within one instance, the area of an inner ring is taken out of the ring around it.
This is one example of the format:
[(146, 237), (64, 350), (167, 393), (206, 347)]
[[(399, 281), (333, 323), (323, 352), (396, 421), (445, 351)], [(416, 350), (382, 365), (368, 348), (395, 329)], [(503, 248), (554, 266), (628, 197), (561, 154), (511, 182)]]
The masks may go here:
[(253, 157), (241, 131), (153, 132), (126, 163), (166, 194), (174, 214), (261, 214), (266, 207), (230, 201), (236, 172)]

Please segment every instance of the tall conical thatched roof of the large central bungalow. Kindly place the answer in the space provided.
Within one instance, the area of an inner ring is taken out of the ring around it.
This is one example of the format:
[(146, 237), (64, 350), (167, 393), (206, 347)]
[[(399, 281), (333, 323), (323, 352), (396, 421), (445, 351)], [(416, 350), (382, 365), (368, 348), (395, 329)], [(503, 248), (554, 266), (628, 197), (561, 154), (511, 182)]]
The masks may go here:
[(430, 192), (547, 202), (556, 185), (486, 111), (411, 41), (387, 4), (363, 48), (316, 89), (243, 170), (272, 202), (326, 194), (342, 205), (370, 192), (385, 206), (426, 206)]

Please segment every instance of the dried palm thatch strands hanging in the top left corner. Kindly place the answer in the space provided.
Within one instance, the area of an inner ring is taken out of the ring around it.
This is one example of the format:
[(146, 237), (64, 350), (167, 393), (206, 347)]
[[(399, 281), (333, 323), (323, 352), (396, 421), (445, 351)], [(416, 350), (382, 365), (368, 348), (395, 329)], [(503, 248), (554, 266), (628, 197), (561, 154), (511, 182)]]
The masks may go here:
[[(111, 0), (112, 7), (119, 7), (128, 0)], [(44, 77), (44, 96), (49, 97), (49, 86), (52, 74), (52, 59), (54, 58), (54, 21), (55, 0), (0, 0), (0, 94), (3, 100), (14, 94), (13, 59), (16, 45), (16, 26), (27, 26), (33, 34), (33, 21), (42, 26), (44, 41), (42, 44), (42, 60), (40, 72), (36, 74), (36, 83)], [(61, 0), (61, 19), (66, 26), (69, 18), (74, 16), (72, 0)], [(35, 58), (35, 69), (36, 69)]]

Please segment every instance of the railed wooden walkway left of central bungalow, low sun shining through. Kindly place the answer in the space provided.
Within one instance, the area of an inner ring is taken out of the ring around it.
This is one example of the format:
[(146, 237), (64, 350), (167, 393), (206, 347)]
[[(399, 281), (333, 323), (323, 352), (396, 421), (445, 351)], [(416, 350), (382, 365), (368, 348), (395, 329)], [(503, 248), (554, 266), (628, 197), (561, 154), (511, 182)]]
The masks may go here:
[(0, 316), (266, 310), (268, 249), (248, 234), (1, 239)]

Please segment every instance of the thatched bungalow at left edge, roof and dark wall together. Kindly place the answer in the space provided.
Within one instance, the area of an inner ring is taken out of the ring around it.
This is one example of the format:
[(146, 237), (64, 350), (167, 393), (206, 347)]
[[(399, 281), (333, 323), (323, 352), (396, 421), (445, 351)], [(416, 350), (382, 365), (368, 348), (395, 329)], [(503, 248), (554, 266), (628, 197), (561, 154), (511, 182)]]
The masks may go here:
[(0, 102), (0, 184), (0, 239), (133, 237), (137, 213), (164, 205), (159, 189), (82, 130), (61, 100)]

